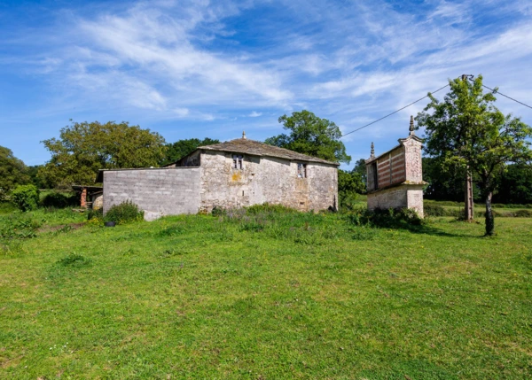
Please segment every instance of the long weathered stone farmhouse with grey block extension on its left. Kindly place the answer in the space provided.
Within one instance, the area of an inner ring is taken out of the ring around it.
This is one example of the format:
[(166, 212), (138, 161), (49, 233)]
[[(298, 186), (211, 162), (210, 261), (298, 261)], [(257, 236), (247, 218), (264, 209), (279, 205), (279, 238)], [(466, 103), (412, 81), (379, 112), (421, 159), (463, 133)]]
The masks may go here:
[(167, 167), (100, 170), (104, 213), (131, 200), (145, 218), (263, 203), (338, 206), (338, 163), (242, 138), (201, 146)]

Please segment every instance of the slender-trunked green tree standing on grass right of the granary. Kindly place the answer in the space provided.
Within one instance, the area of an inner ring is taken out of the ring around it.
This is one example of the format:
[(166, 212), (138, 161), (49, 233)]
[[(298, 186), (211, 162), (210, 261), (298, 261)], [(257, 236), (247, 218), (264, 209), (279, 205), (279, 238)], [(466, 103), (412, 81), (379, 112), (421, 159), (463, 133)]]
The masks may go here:
[(491, 236), (495, 232), (491, 198), (497, 175), (504, 173), (509, 162), (531, 159), (528, 138), (532, 128), (497, 109), (497, 88), (484, 94), (481, 75), (473, 81), (465, 76), (450, 80), (449, 85), (442, 102), (428, 94), (431, 102), (416, 120), (418, 127), (426, 128), (426, 153), (442, 159), (443, 168), (473, 173), (486, 203), (486, 235)]

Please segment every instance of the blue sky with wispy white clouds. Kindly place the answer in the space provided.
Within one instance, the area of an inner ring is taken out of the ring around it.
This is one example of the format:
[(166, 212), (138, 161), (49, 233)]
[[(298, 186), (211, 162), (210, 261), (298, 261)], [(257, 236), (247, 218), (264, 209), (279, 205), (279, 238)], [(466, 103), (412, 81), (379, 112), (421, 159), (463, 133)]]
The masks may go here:
[[(40, 142), (70, 119), (127, 120), (167, 142), (263, 140), (308, 109), (348, 132), (460, 74), (532, 103), (528, 0), (0, 0), (0, 145), (27, 165), (50, 159)], [(424, 104), (346, 136), (351, 167)], [(532, 110), (497, 105), (532, 124)]]

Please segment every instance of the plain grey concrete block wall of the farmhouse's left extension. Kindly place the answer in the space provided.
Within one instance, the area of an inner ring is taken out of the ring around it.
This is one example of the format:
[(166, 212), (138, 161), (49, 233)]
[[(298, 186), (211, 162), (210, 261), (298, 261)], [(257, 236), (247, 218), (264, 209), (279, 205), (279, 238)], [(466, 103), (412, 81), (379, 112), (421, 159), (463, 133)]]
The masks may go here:
[(200, 168), (116, 170), (104, 173), (104, 213), (131, 200), (145, 211), (145, 219), (198, 213)]

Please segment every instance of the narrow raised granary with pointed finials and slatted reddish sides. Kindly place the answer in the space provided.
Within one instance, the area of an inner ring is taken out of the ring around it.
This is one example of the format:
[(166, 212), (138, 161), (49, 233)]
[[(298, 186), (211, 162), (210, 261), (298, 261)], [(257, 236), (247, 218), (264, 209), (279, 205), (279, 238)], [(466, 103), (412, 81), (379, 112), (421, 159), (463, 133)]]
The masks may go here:
[(422, 140), (414, 134), (411, 116), (410, 134), (399, 145), (366, 159), (368, 209), (412, 208), (423, 217)]

